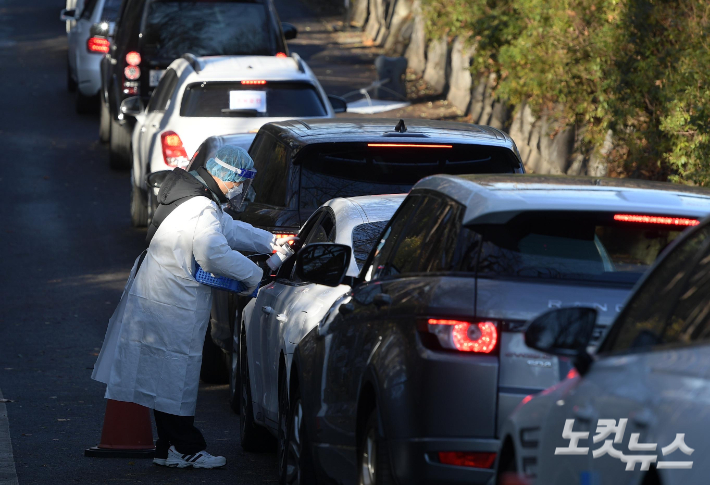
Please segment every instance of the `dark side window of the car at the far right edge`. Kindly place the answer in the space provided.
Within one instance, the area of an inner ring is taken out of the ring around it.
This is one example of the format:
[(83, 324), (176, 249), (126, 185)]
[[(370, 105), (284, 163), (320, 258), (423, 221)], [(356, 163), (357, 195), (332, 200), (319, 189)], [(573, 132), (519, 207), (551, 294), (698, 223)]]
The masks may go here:
[[(692, 263), (698, 251), (707, 244), (708, 236), (710, 226), (705, 226), (682, 241), (658, 264), (609, 330), (600, 353), (638, 351), (658, 344), (680, 296), (685, 276), (693, 269)], [(700, 275), (697, 281), (702, 278)]]

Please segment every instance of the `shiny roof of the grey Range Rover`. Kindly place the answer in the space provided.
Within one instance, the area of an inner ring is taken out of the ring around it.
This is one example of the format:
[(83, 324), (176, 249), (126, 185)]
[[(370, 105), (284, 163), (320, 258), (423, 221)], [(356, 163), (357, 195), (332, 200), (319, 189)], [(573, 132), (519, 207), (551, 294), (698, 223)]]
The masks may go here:
[(710, 190), (668, 182), (555, 175), (434, 175), (434, 190), (466, 206), (464, 224), (505, 223), (525, 211), (629, 211), (702, 218)]

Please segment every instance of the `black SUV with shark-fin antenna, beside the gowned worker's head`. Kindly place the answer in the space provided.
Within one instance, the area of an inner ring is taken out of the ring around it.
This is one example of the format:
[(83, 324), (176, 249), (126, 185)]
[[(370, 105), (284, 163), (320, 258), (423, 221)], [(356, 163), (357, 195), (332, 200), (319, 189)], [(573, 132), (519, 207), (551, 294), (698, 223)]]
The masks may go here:
[[(190, 169), (204, 164), (208, 139)], [(324, 202), (335, 197), (400, 194), (421, 178), (437, 173), (524, 173), (513, 140), (487, 126), (430, 120), (323, 119), (289, 120), (264, 125), (249, 148), (257, 170), (252, 199), (235, 218), (275, 234), (295, 235)], [(231, 370), (232, 391), (239, 389), (239, 369), (230, 365), (233, 342), (241, 329), (238, 314), (248, 299), (213, 292), (210, 332), (203, 379), (223, 380), (218, 365)], [(213, 345), (214, 344), (214, 345)], [(226, 357), (215, 349), (221, 348)]]

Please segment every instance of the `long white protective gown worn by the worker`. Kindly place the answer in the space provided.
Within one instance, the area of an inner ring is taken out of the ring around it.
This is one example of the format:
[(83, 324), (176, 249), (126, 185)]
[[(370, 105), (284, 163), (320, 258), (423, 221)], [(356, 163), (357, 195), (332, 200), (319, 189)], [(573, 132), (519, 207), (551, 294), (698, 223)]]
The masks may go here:
[[(235, 221), (215, 202), (194, 197), (158, 228), (135, 265), (109, 320), (92, 378), (106, 397), (169, 414), (194, 416), (212, 290), (193, 277), (210, 273), (256, 286), (261, 269), (236, 251), (271, 253), (274, 235)], [(236, 250), (236, 251), (234, 251)]]

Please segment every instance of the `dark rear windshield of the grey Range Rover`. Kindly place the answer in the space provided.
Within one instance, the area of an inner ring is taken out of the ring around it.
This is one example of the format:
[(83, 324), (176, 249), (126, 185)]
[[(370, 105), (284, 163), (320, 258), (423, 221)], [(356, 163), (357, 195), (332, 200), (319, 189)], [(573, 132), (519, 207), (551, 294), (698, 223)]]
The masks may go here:
[(614, 216), (529, 212), (507, 224), (473, 226), (470, 231), (483, 237), (478, 275), (631, 286), (685, 229)]

